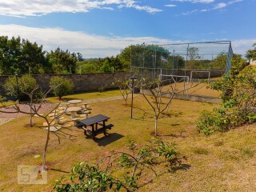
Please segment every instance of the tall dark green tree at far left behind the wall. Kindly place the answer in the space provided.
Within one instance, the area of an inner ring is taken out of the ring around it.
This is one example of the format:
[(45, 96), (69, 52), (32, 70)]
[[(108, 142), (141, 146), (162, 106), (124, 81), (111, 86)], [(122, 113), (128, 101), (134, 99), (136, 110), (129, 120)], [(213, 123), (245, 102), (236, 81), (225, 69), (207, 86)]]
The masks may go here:
[[(36, 42), (0, 36), (0, 74), (43, 74), (48, 72), (46, 52)], [(46, 70), (47, 69), (47, 70)]]

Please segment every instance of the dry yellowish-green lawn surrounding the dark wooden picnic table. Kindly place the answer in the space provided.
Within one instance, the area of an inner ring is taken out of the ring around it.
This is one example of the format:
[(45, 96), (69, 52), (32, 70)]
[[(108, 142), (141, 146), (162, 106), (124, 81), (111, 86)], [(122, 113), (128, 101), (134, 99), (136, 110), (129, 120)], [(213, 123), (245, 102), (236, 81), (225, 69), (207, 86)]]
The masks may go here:
[[(91, 93), (93, 94), (93, 93)], [(97, 93), (96, 93), (97, 94)], [(113, 93), (114, 94), (114, 93)], [(86, 98), (93, 97), (87, 96)], [(78, 96), (72, 95), (72, 98)], [(82, 97), (81, 97), (82, 98)], [(82, 98), (82, 99), (86, 99)], [(53, 98), (54, 99), (54, 98)], [(165, 102), (165, 100), (163, 100)], [(114, 124), (109, 135), (98, 135), (95, 141), (86, 139), (82, 130), (65, 130), (76, 136), (74, 141), (58, 139), (51, 135), (47, 163), (46, 185), (18, 185), (18, 165), (39, 165), (46, 140), (46, 131), (25, 127), (28, 117), (14, 119), (0, 126), (0, 191), (53, 191), (58, 177), (70, 171), (75, 162), (95, 162), (110, 154), (111, 150), (125, 150), (126, 139), (134, 138), (144, 144), (152, 138), (154, 116), (142, 95), (134, 98), (134, 119), (130, 119), (130, 106), (122, 100), (92, 103), (92, 115), (105, 114)], [(171, 170), (155, 167), (158, 177), (142, 178), (139, 191), (254, 191), (256, 190), (255, 126), (243, 126), (227, 133), (209, 137), (195, 131), (194, 121), (202, 110), (215, 105), (202, 102), (173, 100), (170, 117), (159, 120), (158, 133), (166, 142), (177, 142), (182, 166)], [(38, 125), (40, 119), (34, 118)], [(101, 138), (102, 137), (102, 138)], [(41, 154), (40, 158), (34, 155)], [(147, 184), (145, 184), (148, 182)]]

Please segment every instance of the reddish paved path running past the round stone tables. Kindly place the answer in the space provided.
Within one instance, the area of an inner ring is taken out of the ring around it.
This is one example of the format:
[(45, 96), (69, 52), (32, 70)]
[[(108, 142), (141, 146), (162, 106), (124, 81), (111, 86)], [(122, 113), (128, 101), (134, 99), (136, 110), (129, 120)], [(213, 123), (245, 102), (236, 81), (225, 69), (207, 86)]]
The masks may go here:
[[(138, 96), (138, 94), (134, 94), (134, 97)], [(131, 98), (131, 95), (128, 96), (128, 98)], [(88, 102), (88, 103), (94, 103), (94, 102), (108, 102), (108, 101), (114, 101), (114, 100), (120, 100), (123, 99), (122, 96), (115, 96), (115, 97), (111, 97), (111, 98), (92, 98), (92, 99), (86, 99), (83, 100), (83, 102)], [(21, 110), (25, 110), (27, 112), (30, 111), (30, 107), (25, 105), (25, 104), (20, 104), (20, 109)], [(50, 109), (52, 109), (54, 106), (56, 106), (56, 103), (45, 103), (42, 105), (42, 109), (39, 110), (39, 113), (44, 113), (46, 111), (49, 111)], [(14, 111), (14, 108), (12, 106), (7, 106), (4, 108), (0, 108), (0, 110), (4, 110), (4, 111)], [(18, 118), (21, 116), (24, 116), (27, 114), (21, 114), (21, 113), (17, 113), (17, 114), (5, 114), (5, 113), (1, 113), (0, 112), (0, 126), (2, 126), (4, 123), (6, 122), (10, 122), (10, 120), (14, 119), (14, 118)]]

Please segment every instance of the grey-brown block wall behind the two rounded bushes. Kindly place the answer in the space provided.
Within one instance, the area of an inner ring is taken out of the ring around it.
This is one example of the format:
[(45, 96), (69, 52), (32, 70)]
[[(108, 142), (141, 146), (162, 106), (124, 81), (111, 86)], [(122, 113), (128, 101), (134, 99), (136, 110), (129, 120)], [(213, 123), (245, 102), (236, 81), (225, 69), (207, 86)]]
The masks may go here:
[[(53, 76), (62, 76), (74, 82), (74, 92), (86, 90), (98, 90), (99, 87), (114, 88), (110, 86), (117, 79), (126, 80), (130, 78), (130, 73), (114, 73), (114, 74), (38, 74), (32, 75), (38, 82), (42, 90), (49, 90), (50, 78)], [(6, 94), (2, 85), (9, 78), (8, 75), (0, 75), (0, 94)]]

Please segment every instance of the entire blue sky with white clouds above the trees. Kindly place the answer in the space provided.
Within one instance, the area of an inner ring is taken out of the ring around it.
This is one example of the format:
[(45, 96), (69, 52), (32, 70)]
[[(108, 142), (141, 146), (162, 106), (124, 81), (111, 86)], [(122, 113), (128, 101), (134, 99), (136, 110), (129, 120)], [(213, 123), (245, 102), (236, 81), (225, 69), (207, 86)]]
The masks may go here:
[(230, 40), (245, 54), (256, 42), (256, 0), (0, 0), (0, 35), (84, 58), (130, 44)]

